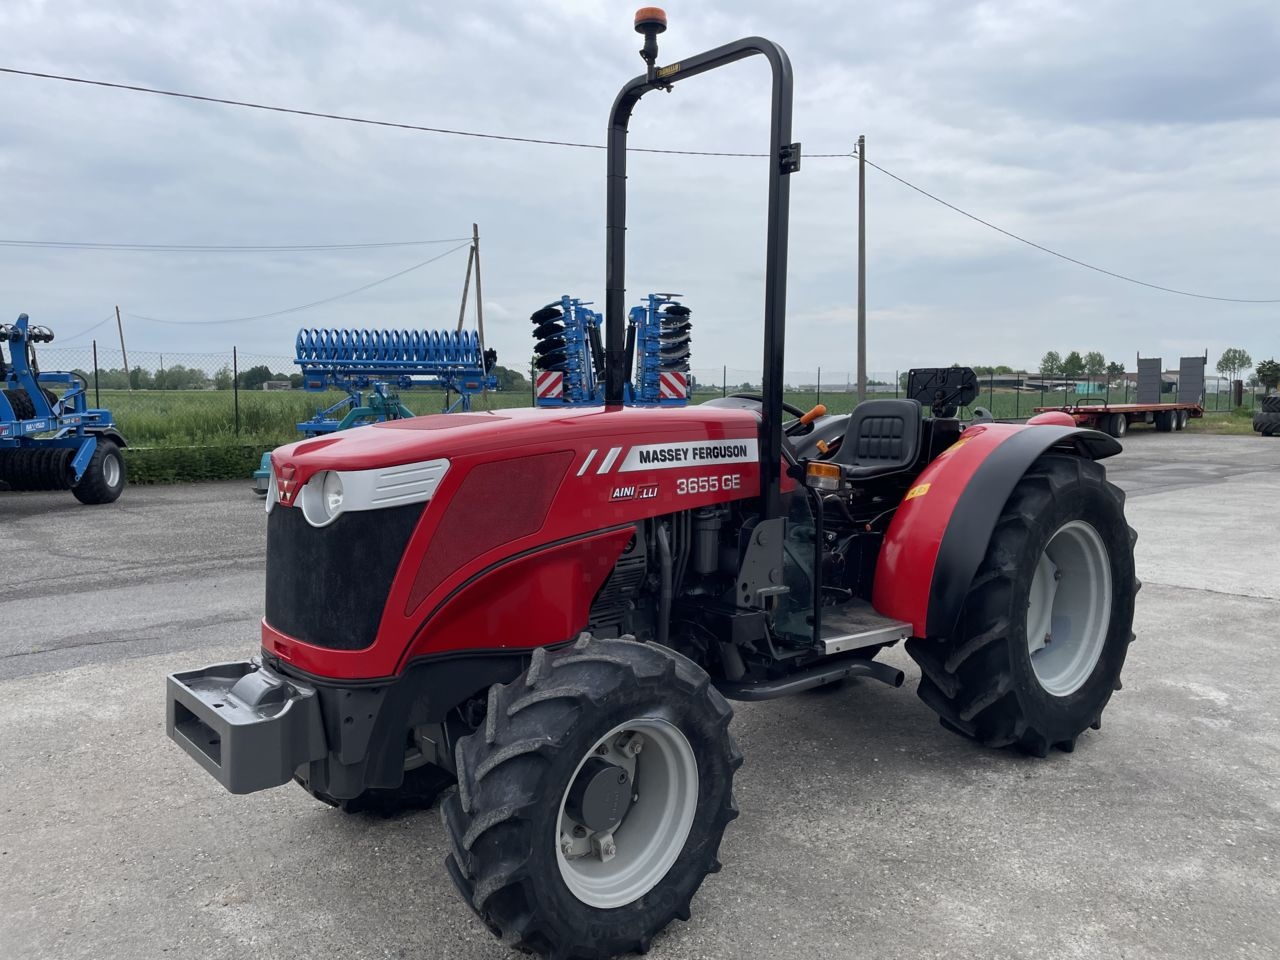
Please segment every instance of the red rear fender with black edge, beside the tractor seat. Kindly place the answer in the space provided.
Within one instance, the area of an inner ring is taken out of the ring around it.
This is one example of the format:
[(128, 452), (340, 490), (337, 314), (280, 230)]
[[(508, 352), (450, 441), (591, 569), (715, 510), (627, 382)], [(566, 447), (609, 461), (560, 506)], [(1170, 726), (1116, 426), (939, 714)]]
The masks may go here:
[(872, 603), (915, 636), (950, 636), (1005, 502), (1041, 454), (1089, 460), (1120, 452), (1097, 430), (1061, 425), (970, 426), (916, 477), (884, 534)]

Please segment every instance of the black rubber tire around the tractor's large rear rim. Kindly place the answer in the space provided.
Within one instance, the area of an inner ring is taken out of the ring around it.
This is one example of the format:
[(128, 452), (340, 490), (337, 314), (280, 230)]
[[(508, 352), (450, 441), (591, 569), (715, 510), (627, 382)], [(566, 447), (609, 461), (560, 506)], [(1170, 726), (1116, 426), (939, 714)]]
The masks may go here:
[[(1111, 621), (1098, 663), (1068, 696), (1048, 694), (1027, 649), (1027, 608), (1041, 553), (1068, 521), (1083, 520), (1102, 538), (1111, 566)], [(1137, 534), (1124, 517), (1124, 493), (1101, 465), (1051, 453), (1014, 488), (965, 596), (955, 636), (911, 639), (906, 652), (920, 667), (918, 692), (942, 726), (987, 746), (1016, 746), (1044, 756), (1070, 753), (1087, 727), (1098, 728), (1120, 689), (1133, 604)]]

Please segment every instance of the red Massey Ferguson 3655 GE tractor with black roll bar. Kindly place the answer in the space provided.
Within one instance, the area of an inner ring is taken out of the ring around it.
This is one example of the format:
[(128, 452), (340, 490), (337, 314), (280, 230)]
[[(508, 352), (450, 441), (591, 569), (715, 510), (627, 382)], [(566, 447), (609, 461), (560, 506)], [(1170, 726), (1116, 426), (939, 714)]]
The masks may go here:
[[(904, 643), (948, 730), (1070, 751), (1120, 687), (1138, 586), (1111, 436), (1061, 413), (961, 429), (960, 369), (847, 416), (783, 403), (791, 65), (750, 37), (658, 67), (664, 15), (636, 28), (648, 68), (609, 119), (603, 403), (276, 449), (261, 653), (168, 680), (169, 735), (233, 794), (296, 781), (355, 810), (448, 791), (467, 905), (566, 959), (689, 919), (737, 817), (730, 700), (899, 685), (876, 655)], [(628, 118), (755, 55), (773, 74), (763, 390), (627, 406)]]

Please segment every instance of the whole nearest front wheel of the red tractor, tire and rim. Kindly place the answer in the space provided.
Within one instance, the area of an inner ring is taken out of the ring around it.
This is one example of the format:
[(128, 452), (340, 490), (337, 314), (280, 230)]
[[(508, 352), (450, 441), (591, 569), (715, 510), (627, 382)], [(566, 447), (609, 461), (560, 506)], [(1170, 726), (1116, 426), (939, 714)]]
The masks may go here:
[(709, 873), (742, 755), (698, 666), (655, 644), (539, 649), (458, 741), (445, 864), (480, 919), (526, 952), (644, 952)]

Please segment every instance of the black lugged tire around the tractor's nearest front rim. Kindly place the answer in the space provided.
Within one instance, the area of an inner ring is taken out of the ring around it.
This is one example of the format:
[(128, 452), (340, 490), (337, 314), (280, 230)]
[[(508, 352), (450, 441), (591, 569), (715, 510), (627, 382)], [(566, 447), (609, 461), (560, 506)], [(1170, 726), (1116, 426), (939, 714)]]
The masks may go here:
[[(694, 826), (676, 863), (639, 900), (614, 909), (580, 901), (561, 877), (559, 800), (581, 758), (609, 730), (662, 717), (698, 758)], [(595, 960), (644, 952), (673, 919), (687, 920), (728, 823), (742, 755), (733, 712), (705, 672), (680, 654), (634, 640), (580, 639), (534, 653), (529, 669), (489, 691), (485, 727), (458, 741), (458, 788), (440, 806), (463, 899), (508, 946)]]

